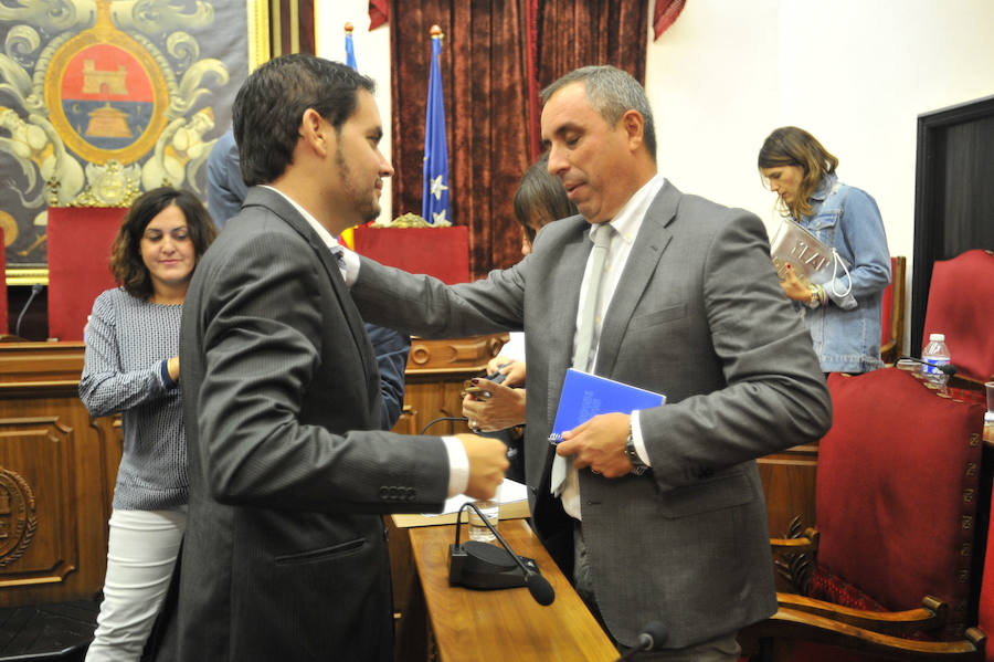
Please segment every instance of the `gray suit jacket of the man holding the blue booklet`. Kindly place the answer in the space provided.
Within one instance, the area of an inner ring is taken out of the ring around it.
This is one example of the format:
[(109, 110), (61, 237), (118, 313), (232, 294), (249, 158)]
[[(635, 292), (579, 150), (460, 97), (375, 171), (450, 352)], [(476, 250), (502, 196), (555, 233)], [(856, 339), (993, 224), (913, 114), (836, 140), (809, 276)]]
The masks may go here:
[[(526, 479), (536, 528), (569, 566), (571, 523), (549, 496), (551, 430), (570, 366), (589, 223), (547, 225), (532, 253), (484, 281), (446, 287), (362, 260), (352, 296), (370, 321), (422, 336), (526, 330)], [(653, 470), (580, 472), (599, 607), (632, 645), (662, 621), (665, 645), (728, 634), (776, 609), (755, 459), (818, 439), (824, 377), (783, 295), (760, 220), (684, 196), (653, 201), (601, 330), (595, 371), (665, 393), (641, 413)]]

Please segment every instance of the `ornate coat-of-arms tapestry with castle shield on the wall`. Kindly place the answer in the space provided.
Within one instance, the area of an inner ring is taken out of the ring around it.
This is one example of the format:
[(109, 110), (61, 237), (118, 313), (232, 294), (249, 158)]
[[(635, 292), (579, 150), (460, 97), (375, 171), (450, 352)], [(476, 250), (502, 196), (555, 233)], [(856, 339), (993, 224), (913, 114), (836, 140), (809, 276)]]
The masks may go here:
[(0, 0), (9, 267), (46, 262), (47, 206), (124, 207), (162, 185), (204, 193), (202, 166), (247, 73), (245, 12), (199, 0)]

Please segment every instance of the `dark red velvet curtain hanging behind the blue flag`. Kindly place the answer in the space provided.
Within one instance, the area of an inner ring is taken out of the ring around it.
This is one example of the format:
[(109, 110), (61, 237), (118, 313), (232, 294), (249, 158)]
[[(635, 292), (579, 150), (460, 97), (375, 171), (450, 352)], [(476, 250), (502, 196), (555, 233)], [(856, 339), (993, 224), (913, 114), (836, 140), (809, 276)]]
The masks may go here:
[(586, 64), (613, 64), (644, 82), (648, 3), (390, 0), (389, 14), (393, 213), (421, 210), (429, 30), (438, 24), (452, 219), (469, 228), (472, 277), (510, 266), (521, 259), (511, 201), (532, 158), (538, 123), (529, 108), (540, 109), (529, 93)]

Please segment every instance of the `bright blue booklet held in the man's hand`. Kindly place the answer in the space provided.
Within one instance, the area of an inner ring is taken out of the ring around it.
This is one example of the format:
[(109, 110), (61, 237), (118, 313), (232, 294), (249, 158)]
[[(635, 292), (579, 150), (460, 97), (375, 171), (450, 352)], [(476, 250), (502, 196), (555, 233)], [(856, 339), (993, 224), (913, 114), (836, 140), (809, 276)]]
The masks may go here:
[(562, 433), (585, 423), (599, 413), (632, 413), (666, 402), (666, 396), (654, 393), (606, 377), (570, 368), (562, 382), (562, 396), (549, 440), (562, 441)]

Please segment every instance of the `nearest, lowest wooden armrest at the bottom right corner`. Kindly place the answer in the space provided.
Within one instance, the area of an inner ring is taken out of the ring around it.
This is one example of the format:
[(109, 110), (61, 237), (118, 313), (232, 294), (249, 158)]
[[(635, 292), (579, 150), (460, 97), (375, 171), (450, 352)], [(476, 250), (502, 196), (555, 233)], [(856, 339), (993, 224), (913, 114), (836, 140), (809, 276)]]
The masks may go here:
[(920, 641), (874, 632), (831, 618), (781, 608), (775, 614), (750, 626), (748, 637), (772, 638), (774, 660), (786, 659), (784, 649), (793, 641), (813, 641), (826, 645), (856, 650), (885, 660), (969, 660), (981, 662), (986, 635), (976, 628), (958, 641)]

